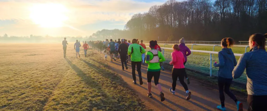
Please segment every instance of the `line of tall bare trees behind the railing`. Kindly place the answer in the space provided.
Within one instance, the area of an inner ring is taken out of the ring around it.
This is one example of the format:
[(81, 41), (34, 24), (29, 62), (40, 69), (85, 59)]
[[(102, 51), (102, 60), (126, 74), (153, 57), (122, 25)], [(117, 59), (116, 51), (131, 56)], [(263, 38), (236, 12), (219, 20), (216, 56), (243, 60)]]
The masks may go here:
[(97, 31), (92, 37), (248, 41), (253, 33), (267, 33), (267, 0), (169, 0), (133, 15), (124, 30)]

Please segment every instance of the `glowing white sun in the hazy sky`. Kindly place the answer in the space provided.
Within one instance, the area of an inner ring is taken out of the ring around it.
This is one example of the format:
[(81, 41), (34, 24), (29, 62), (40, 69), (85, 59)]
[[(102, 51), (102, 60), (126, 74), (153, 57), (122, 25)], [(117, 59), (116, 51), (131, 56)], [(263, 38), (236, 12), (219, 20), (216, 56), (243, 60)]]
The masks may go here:
[(30, 18), (41, 27), (62, 27), (68, 20), (66, 12), (67, 8), (62, 4), (34, 4), (30, 8)]

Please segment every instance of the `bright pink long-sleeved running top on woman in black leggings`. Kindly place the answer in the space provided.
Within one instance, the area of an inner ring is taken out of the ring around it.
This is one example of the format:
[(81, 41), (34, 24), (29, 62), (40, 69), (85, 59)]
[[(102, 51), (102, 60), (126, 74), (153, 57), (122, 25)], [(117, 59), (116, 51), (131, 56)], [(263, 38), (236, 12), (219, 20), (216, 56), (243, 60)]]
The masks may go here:
[(170, 62), (170, 65), (173, 65), (173, 68), (175, 69), (185, 68), (185, 65), (184, 65), (185, 57), (181, 51), (173, 51), (172, 59), (173, 60)]

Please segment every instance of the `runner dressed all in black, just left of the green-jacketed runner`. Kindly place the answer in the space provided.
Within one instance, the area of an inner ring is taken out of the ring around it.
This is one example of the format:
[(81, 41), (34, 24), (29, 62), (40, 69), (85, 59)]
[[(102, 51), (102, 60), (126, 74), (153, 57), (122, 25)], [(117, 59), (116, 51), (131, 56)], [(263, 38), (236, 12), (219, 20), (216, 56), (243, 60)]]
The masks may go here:
[[(121, 39), (121, 42), (124, 42), (124, 39)], [(126, 70), (128, 69), (127, 67), (127, 52), (128, 52), (128, 46), (126, 44), (120, 44), (118, 48), (118, 52), (120, 53), (120, 61), (122, 62), (122, 70), (124, 70), (124, 66)]]

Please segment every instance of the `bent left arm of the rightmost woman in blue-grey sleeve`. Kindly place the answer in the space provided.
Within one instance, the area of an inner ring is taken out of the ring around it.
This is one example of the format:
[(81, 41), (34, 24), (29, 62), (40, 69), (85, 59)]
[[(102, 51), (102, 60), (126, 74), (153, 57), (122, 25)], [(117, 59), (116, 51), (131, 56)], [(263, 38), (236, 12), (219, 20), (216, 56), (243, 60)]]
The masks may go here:
[(247, 63), (246, 63), (246, 56), (243, 54), (243, 55), (239, 58), (238, 63), (237, 63), (237, 65), (236, 65), (235, 69), (234, 69), (233, 72), (232, 72), (233, 78), (234, 78), (234, 79), (239, 78), (239, 77), (243, 74), (243, 72), (244, 72), (246, 66), (247, 66)]

